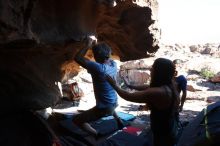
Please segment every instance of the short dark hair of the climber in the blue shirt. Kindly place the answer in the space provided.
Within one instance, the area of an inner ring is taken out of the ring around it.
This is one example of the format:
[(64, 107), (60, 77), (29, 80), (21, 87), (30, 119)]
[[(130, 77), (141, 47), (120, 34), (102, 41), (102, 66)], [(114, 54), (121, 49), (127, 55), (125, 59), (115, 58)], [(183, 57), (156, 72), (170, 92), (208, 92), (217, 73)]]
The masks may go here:
[(104, 62), (105, 60), (109, 59), (112, 52), (111, 47), (106, 43), (99, 43), (97, 45), (94, 45), (92, 47), (92, 51), (95, 56), (95, 59), (98, 59), (101, 62)]

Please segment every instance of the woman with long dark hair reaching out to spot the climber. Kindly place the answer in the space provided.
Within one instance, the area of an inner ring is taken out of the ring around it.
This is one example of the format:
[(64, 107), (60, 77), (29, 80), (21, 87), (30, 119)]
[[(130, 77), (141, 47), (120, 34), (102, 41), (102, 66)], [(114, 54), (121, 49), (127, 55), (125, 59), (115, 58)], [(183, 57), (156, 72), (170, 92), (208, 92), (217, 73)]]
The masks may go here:
[(108, 82), (125, 100), (150, 105), (154, 146), (174, 146), (177, 136), (179, 94), (174, 81), (175, 66), (169, 59), (158, 58), (151, 68), (150, 87), (130, 93), (111, 77)]

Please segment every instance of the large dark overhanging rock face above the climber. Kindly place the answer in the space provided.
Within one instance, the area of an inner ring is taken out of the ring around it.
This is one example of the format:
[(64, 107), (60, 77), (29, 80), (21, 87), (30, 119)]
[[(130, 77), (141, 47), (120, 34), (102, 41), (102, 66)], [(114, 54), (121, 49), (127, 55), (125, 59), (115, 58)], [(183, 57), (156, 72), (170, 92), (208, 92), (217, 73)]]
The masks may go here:
[(157, 1), (119, 0), (112, 7), (114, 2), (0, 0), (1, 114), (55, 104), (55, 82), (77, 74), (72, 59), (87, 34), (106, 41), (122, 61), (156, 52)]

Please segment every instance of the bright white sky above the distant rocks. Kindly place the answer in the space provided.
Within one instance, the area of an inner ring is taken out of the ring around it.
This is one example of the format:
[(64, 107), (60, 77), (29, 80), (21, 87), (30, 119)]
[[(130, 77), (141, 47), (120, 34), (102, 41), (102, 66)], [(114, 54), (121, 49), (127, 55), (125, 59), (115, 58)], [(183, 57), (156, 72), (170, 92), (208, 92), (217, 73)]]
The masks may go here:
[(220, 43), (220, 0), (158, 0), (163, 43)]

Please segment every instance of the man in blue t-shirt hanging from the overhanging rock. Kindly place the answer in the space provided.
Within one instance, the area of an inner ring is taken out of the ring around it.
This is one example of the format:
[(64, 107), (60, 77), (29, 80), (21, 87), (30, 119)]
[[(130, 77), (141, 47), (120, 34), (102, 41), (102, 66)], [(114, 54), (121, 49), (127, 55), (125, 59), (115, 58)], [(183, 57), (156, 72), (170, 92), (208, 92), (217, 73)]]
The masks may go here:
[[(93, 45), (94, 43), (95, 45)], [(80, 49), (75, 56), (75, 61), (87, 69), (92, 76), (96, 105), (74, 117), (73, 123), (97, 138), (100, 133), (91, 127), (89, 122), (113, 115), (119, 128), (122, 128), (123, 124), (115, 112), (117, 94), (105, 78), (106, 75), (116, 78), (116, 62), (110, 59), (111, 48), (106, 43), (96, 43), (97, 39), (94, 36), (89, 36), (86, 47)], [(89, 48), (92, 48), (95, 61), (85, 58)]]

